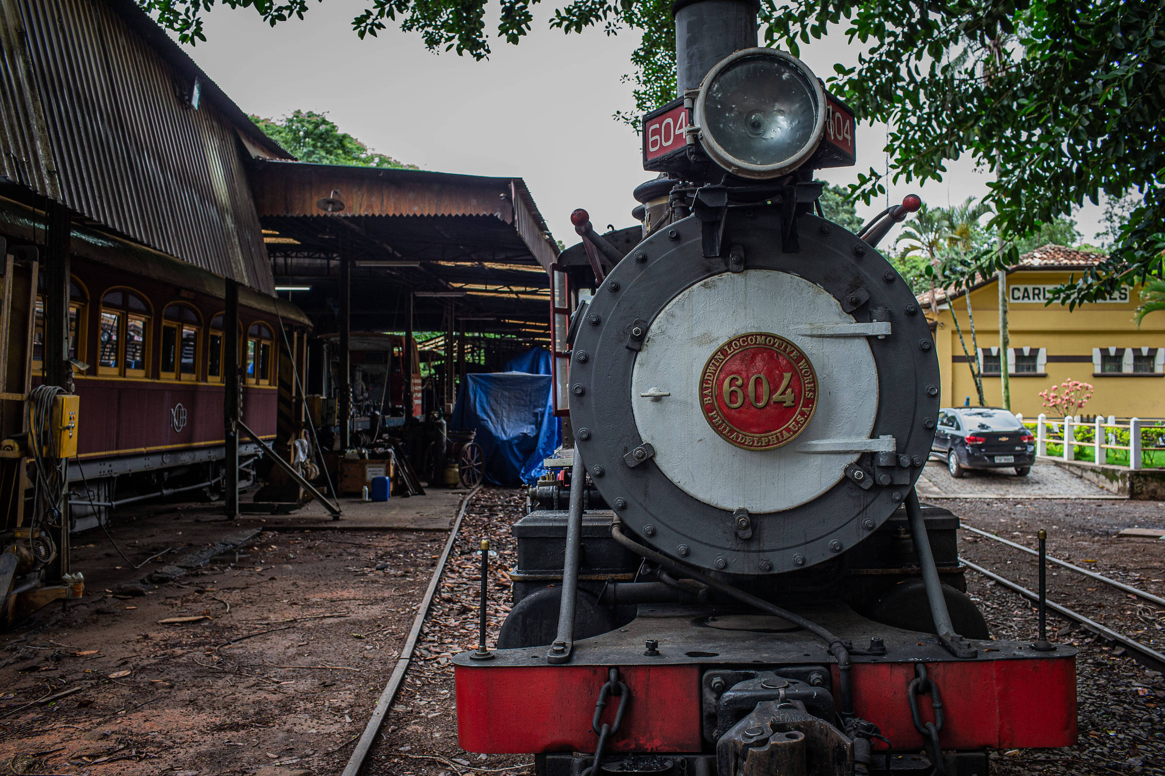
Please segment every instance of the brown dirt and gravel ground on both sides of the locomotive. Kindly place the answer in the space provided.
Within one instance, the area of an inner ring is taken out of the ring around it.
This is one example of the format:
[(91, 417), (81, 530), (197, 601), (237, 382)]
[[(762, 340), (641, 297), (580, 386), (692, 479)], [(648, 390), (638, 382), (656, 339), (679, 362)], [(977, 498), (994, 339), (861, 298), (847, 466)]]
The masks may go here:
[[(1165, 595), (1165, 542), (1116, 536), (1123, 527), (1165, 526), (1159, 504), (968, 499), (942, 506), (966, 525), (1031, 547), (1036, 529), (1046, 528), (1051, 554)], [(510, 525), (522, 507), (516, 490), (483, 490), (471, 503), (417, 660), (363, 773), (532, 773), (529, 756), (478, 755), (457, 746), (449, 662), (476, 645), (483, 537), (493, 550), (490, 643), (496, 636), (508, 611), (506, 571), (515, 560)], [(0, 764), (16, 773), (85, 776), (343, 770), (447, 534), (264, 532), (238, 557), (225, 553), (172, 583), (134, 584), (179, 551), (231, 531), (238, 529), (206, 507), (191, 506), (120, 524), (114, 534), (132, 558), (176, 548), (140, 571), (126, 567), (100, 532), (78, 537), (90, 595), (64, 612), (43, 610), (31, 626), (0, 635)], [(1035, 564), (1018, 550), (963, 532), (960, 551), (1030, 588), (1036, 584)], [(1158, 649), (1165, 646), (1165, 619), (1156, 607), (1066, 569), (1050, 570), (1048, 579), (1054, 600)], [(1030, 605), (974, 572), (968, 582), (997, 638), (1035, 636)], [(200, 615), (210, 619), (158, 624)], [(1005, 776), (1165, 774), (1160, 674), (1066, 621), (1050, 622), (1053, 640), (1081, 650), (1081, 742), (1050, 752), (1000, 752), (993, 769)]]

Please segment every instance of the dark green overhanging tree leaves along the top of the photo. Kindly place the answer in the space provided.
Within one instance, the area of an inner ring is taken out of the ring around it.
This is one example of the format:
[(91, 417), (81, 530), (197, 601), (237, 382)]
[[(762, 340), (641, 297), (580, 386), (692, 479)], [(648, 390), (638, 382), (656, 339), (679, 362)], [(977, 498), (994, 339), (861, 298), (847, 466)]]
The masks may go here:
[[(216, 2), (253, 8), (276, 24), (302, 17), (309, 0), (137, 0), (182, 41), (203, 40)], [(322, 1), (322, 0), (320, 0)], [(501, 0), (497, 36), (530, 30), (534, 0)], [(388, 21), (419, 31), (431, 49), (489, 55), (483, 0), (365, 0), (353, 20), (363, 37)], [(494, 13), (490, 10), (490, 13)], [(1106, 262), (1060, 291), (1069, 306), (1127, 283), (1165, 275), (1165, 6), (1160, 0), (761, 0), (767, 45), (798, 54), (840, 34), (863, 44), (855, 67), (829, 88), (860, 120), (890, 127), (890, 180), (941, 180), (946, 163), (970, 156), (995, 173), (987, 202), (1003, 245), (968, 263), (968, 277), (1012, 263), (1011, 240), (1057, 225), (1086, 199), (1136, 192), (1110, 235)], [(492, 22), (493, 23), (493, 22)], [(567, 0), (551, 26), (642, 33), (631, 58), (635, 113), (675, 94), (675, 35), (664, 0)], [(855, 176), (867, 204), (883, 173)]]

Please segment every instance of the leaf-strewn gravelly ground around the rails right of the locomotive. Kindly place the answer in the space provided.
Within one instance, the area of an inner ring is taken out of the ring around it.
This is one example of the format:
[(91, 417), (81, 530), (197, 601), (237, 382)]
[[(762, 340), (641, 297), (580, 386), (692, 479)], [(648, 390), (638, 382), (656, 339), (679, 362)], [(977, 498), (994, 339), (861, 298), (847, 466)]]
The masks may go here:
[[(1152, 501), (967, 500), (944, 501), (963, 525), (1036, 548), (1036, 532), (1048, 532), (1048, 554), (1165, 596), (1165, 542), (1117, 536), (1121, 528), (1163, 527), (1165, 510)], [(1036, 590), (1035, 557), (970, 532), (960, 554), (1008, 579)], [(1048, 599), (1162, 650), (1165, 612), (1068, 569), (1048, 567)], [(983, 608), (998, 639), (1036, 638), (1035, 607), (1018, 595), (974, 572), (968, 592)], [(1165, 683), (1120, 646), (1097, 639), (1066, 619), (1048, 617), (1050, 639), (1071, 643), (1076, 657), (1080, 740), (1062, 749), (1012, 749), (993, 755), (1001, 776), (1026, 774), (1165, 774)]]

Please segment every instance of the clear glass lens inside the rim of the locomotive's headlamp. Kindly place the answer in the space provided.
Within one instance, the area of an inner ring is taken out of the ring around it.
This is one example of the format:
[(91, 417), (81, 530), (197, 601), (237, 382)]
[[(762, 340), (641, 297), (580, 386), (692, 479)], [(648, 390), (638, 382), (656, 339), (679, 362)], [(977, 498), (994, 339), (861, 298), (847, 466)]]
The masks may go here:
[(803, 73), (776, 57), (746, 57), (708, 86), (705, 131), (749, 164), (779, 164), (812, 142), (817, 98)]

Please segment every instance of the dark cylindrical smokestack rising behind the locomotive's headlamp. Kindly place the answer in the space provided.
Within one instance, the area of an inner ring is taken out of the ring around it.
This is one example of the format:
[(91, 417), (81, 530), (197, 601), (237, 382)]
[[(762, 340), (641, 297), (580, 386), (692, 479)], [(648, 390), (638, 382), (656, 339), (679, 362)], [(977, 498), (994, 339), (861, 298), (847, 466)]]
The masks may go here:
[(758, 0), (677, 0), (676, 86), (698, 88), (712, 66), (733, 51), (756, 47)]

